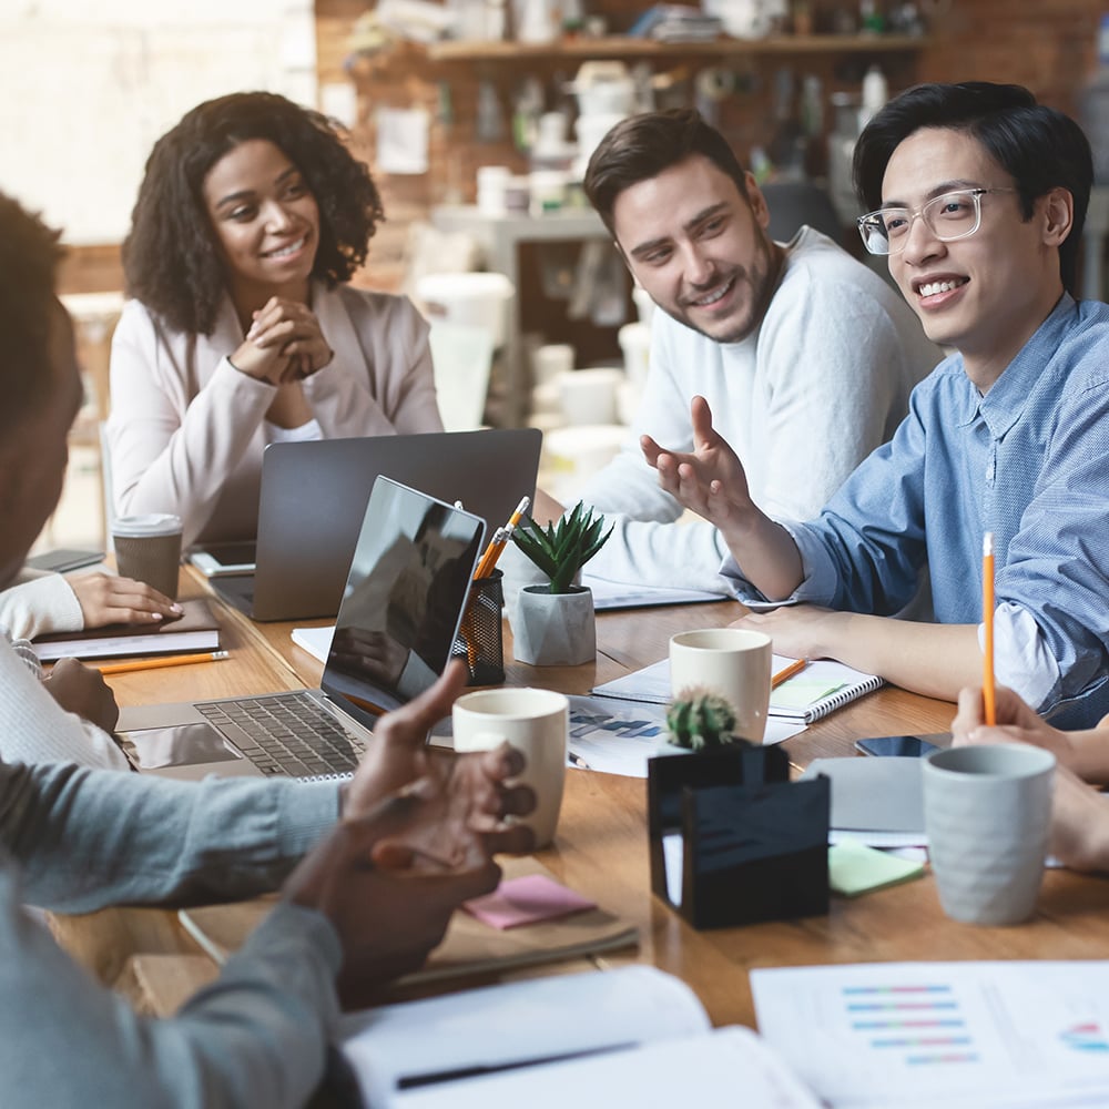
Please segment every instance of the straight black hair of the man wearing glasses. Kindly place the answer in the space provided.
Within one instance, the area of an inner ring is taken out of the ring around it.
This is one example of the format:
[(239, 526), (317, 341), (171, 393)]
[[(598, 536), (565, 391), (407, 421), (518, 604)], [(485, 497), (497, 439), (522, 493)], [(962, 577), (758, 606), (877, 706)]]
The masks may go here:
[(1059, 276), (1075, 293), (1078, 250), (1093, 182), (1093, 156), (1082, 129), (1069, 115), (1037, 103), (1019, 84), (963, 81), (918, 84), (889, 101), (858, 138), (852, 163), (864, 210), (882, 204), (882, 180), (894, 151), (922, 128), (962, 131), (981, 144), (1013, 177), (1025, 220), (1038, 197), (1055, 187), (1074, 197), (1070, 234), (1059, 247)]

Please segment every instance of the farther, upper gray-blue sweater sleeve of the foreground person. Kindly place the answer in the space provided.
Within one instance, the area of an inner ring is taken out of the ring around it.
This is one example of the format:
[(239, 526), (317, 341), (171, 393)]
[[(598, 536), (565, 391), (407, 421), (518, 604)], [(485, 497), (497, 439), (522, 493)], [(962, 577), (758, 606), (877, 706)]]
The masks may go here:
[(68, 913), (274, 889), (337, 817), (327, 783), (0, 763), (0, 846), (22, 864), (31, 903)]

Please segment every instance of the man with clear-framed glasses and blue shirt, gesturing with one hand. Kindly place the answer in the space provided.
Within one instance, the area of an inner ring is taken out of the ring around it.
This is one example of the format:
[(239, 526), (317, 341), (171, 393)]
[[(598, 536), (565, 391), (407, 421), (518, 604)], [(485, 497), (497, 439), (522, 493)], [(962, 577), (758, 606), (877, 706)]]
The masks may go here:
[[(741, 624), (933, 696), (980, 674), (991, 531), (998, 678), (1089, 726), (1109, 710), (1109, 307), (1072, 295), (1089, 143), (1025, 89), (922, 85), (871, 121), (854, 173), (863, 242), (954, 348), (891, 442), (805, 525), (756, 506), (703, 399), (692, 452), (644, 452), (721, 529), (741, 598), (790, 602)], [(926, 564), (936, 622), (888, 619)]]

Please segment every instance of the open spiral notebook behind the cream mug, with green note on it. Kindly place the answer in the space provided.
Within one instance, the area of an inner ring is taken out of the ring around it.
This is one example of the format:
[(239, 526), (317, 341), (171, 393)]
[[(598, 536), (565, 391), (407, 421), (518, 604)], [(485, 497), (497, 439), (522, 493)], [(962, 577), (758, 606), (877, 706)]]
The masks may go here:
[[(773, 673), (784, 670), (794, 661), (775, 654)], [(864, 674), (842, 662), (821, 659), (810, 662), (804, 670), (771, 693), (770, 714), (782, 720), (811, 724), (884, 684), (884, 680), (877, 674)], [(604, 682), (593, 689), (593, 694), (619, 698), (622, 701), (665, 704), (670, 700), (670, 661), (663, 659), (643, 670)]]

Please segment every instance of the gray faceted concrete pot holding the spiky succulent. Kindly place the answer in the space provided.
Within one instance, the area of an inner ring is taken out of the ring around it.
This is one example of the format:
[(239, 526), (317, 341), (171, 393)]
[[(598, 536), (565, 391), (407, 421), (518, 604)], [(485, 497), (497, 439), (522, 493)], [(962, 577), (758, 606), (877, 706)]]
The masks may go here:
[(552, 593), (525, 586), (509, 612), (512, 653), (530, 667), (577, 667), (597, 658), (593, 594), (583, 586)]

